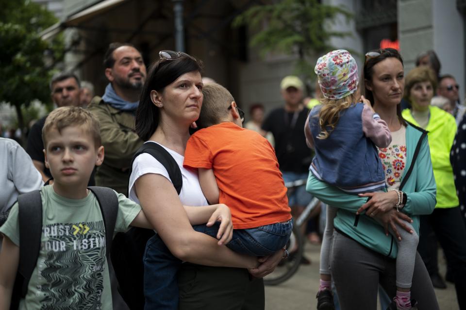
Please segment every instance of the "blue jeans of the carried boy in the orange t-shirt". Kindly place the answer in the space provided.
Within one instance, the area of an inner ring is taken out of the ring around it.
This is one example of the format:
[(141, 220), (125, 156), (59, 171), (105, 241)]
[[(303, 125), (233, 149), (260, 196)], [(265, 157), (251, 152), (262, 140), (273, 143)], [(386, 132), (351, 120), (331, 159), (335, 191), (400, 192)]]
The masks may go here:
[[(216, 238), (219, 223), (211, 227), (193, 226), (194, 230)], [(292, 221), (256, 228), (235, 229), (227, 246), (235, 252), (251, 256), (272, 255), (290, 238)], [(151, 237), (144, 253), (144, 309), (177, 310), (177, 273), (182, 261), (174, 257), (158, 234)]]

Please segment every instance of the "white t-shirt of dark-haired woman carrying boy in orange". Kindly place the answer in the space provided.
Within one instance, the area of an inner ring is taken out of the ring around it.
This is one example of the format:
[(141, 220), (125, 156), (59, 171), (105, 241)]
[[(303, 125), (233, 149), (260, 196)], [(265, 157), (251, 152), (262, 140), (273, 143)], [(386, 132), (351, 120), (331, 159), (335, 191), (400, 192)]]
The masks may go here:
[[(151, 141), (153, 142), (153, 141)], [(176, 163), (181, 170), (181, 175), (183, 178), (183, 187), (180, 192), (180, 200), (185, 206), (206, 206), (209, 203), (207, 199), (205, 199), (204, 194), (202, 194), (202, 190), (200, 188), (198, 173), (194, 170), (188, 170), (183, 167), (184, 156), (178, 154), (177, 152), (164, 147), (160, 143), (158, 145), (162, 146), (166, 149), (168, 153), (175, 159)], [(133, 162), (133, 173), (130, 176), (130, 184), (129, 184), (129, 198), (138, 204), (140, 204), (139, 199), (136, 195), (136, 190), (134, 183), (136, 180), (147, 174), (147, 173), (154, 173), (160, 174), (164, 176), (171, 182), (170, 177), (168, 176), (168, 172), (166, 171), (165, 167), (156, 160), (152, 155), (143, 153), (136, 157)]]

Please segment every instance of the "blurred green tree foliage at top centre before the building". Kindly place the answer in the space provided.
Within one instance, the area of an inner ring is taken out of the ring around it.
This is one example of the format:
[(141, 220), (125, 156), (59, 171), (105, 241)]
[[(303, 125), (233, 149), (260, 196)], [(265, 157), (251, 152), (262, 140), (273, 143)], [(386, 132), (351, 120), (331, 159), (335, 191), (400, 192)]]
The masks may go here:
[(297, 54), (298, 74), (311, 77), (315, 64), (309, 59), (334, 49), (330, 38), (350, 35), (332, 30), (338, 16), (347, 21), (352, 18), (344, 8), (317, 0), (280, 0), (250, 7), (236, 17), (233, 26), (247, 24), (256, 31), (250, 43), (260, 49), (262, 56), (269, 52)]

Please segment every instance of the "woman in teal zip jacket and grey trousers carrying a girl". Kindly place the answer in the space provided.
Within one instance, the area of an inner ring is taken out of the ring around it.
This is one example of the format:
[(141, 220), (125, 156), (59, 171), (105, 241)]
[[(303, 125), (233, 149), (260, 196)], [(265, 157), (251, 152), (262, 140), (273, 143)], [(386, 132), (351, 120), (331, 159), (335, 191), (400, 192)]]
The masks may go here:
[[(365, 97), (373, 102), (375, 112), (392, 132), (391, 145), (379, 149), (379, 157), (387, 185), (395, 190), (349, 195), (319, 181), (312, 173), (306, 186), (321, 201), (338, 208), (333, 222), (330, 270), (342, 310), (376, 310), (378, 284), (395, 296), (397, 243), (387, 231), (389, 228), (396, 231), (395, 223), (406, 227), (404, 221), (412, 218), (418, 233), (419, 215), (430, 214), (435, 206), (427, 132), (401, 118), (399, 102), (404, 86), (401, 56), (395, 49), (369, 52), (363, 74)], [(396, 208), (398, 194), (402, 201)], [(419, 254), (411, 295), (418, 300), (418, 309), (439, 309)], [(389, 309), (397, 306), (392, 303)]]

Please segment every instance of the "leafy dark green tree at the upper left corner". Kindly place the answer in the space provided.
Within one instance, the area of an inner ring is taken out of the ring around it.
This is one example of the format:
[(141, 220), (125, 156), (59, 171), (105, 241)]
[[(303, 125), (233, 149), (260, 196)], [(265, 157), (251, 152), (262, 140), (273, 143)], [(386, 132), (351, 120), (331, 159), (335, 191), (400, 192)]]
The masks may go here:
[(63, 57), (63, 41), (43, 41), (38, 33), (57, 19), (29, 0), (0, 0), (0, 101), (15, 106), (18, 125), (24, 127), (21, 107), (34, 100), (50, 100), (51, 68), (45, 55), (58, 61)]

